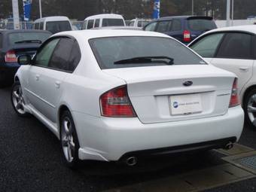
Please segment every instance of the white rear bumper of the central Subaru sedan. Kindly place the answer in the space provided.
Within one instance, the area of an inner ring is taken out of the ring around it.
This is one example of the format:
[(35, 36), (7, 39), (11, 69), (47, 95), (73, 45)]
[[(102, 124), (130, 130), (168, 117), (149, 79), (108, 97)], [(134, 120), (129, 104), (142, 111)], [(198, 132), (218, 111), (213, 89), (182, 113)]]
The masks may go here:
[(223, 116), (169, 123), (143, 124), (138, 118), (72, 114), (81, 146), (81, 160), (116, 161), (131, 154), (172, 154), (221, 148), (228, 142), (238, 141), (244, 122), (240, 106), (229, 108)]

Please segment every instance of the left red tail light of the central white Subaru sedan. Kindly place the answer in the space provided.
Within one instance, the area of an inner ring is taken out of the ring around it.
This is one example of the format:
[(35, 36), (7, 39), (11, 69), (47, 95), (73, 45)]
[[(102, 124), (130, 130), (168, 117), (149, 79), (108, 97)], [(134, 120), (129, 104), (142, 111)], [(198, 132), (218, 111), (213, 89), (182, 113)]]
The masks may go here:
[(136, 117), (130, 102), (127, 87), (117, 87), (100, 97), (102, 116), (105, 117)]

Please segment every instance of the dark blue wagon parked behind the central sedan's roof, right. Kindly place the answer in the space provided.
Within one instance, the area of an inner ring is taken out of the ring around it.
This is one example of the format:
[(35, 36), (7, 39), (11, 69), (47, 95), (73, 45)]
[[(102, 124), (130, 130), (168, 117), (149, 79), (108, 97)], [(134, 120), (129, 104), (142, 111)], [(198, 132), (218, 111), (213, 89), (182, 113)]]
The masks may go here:
[(199, 16), (162, 17), (144, 27), (145, 31), (162, 32), (184, 44), (188, 44), (204, 32), (216, 28), (215, 20), (212, 17)]

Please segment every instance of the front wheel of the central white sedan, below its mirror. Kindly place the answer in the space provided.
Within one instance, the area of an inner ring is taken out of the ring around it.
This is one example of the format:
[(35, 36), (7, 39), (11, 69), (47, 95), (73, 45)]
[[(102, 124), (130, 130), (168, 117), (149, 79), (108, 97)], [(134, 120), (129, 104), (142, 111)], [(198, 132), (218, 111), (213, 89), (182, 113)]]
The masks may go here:
[(29, 117), (29, 113), (24, 109), (25, 102), (19, 81), (16, 81), (11, 89), (11, 104), (20, 117)]

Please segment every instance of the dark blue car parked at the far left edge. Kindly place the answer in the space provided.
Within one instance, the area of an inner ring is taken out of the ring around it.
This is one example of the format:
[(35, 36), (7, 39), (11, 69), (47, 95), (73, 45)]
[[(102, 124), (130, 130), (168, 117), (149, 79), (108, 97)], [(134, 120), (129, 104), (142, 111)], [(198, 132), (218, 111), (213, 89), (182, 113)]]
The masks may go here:
[(0, 30), (0, 87), (11, 84), (20, 65), (17, 57), (34, 55), (51, 35), (41, 30)]

